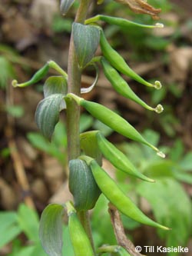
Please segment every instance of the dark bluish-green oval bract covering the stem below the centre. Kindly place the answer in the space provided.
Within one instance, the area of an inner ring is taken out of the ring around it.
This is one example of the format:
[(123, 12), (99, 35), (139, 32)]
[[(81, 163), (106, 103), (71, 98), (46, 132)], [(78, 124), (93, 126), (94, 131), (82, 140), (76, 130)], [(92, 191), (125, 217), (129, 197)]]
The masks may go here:
[(73, 159), (69, 162), (69, 171), (69, 190), (74, 196), (74, 206), (77, 211), (94, 208), (101, 191), (87, 163)]

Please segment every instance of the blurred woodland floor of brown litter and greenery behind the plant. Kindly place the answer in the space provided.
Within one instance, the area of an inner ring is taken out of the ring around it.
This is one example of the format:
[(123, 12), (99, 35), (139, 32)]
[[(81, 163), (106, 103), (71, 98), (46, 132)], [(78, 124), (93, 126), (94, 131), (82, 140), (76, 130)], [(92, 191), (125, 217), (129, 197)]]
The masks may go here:
[[(45, 80), (27, 88), (12, 88), (11, 83), (15, 78), (19, 82), (28, 81), (50, 59), (67, 70), (71, 24), (78, 2), (74, 2), (65, 18), (56, 0), (0, 2), (0, 255), (44, 256), (38, 241), (41, 211), (50, 202), (64, 203), (71, 198), (66, 168), (65, 111), (50, 143), (34, 121)], [(102, 71), (98, 85), (86, 98), (118, 111), (161, 148), (167, 158), (161, 160), (149, 148), (112, 133), (85, 111), (81, 116), (81, 131), (101, 129), (140, 171), (157, 181), (151, 185), (132, 180), (104, 161), (104, 167), (146, 214), (172, 228), (169, 232), (157, 231), (122, 216), (127, 236), (134, 244), (183, 246), (189, 248), (187, 254), (161, 255), (191, 256), (192, 3), (190, 0), (148, 0), (148, 3), (161, 8), (159, 22), (164, 23), (164, 29), (127, 31), (104, 24), (104, 32), (134, 71), (147, 81), (162, 82), (163, 88), (155, 91), (126, 78), (148, 105), (162, 104), (164, 112), (157, 115), (117, 95)], [(135, 15), (124, 5), (108, 0), (102, 5), (96, 2), (91, 5), (90, 16), (98, 13), (144, 24), (155, 23), (147, 15)], [(101, 54), (100, 49), (97, 54)], [(55, 71), (50, 70), (49, 74), (55, 75)], [(91, 85), (94, 75), (91, 69), (84, 71), (82, 87)], [(96, 246), (116, 243), (107, 209), (108, 201), (101, 196), (91, 211)], [(73, 256), (67, 221), (64, 251), (64, 255)]]

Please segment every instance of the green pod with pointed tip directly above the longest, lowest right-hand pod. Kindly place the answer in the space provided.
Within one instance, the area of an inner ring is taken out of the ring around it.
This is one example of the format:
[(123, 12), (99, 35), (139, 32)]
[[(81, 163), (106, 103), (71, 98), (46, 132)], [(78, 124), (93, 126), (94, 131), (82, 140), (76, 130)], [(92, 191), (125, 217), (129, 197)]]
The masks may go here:
[(137, 171), (131, 161), (116, 148), (111, 142), (109, 142), (100, 132), (97, 133), (98, 146), (103, 153), (104, 157), (111, 162), (114, 167), (136, 178), (141, 178), (144, 181), (154, 182), (151, 178), (147, 178), (141, 172)]

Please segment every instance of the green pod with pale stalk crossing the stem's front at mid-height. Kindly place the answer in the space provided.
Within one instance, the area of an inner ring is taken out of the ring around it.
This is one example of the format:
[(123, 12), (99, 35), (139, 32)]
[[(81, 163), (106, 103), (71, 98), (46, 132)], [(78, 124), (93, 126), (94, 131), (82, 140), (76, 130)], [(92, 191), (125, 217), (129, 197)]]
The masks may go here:
[(84, 107), (94, 118), (97, 118), (99, 121), (104, 123), (104, 125), (108, 125), (114, 131), (117, 131), (119, 134), (124, 135), (126, 138), (131, 138), (134, 141), (141, 142), (144, 145), (149, 146), (157, 152), (157, 155), (164, 158), (165, 155), (158, 150), (158, 148), (151, 145), (148, 141), (144, 139), (144, 137), (132, 126), (130, 125), (124, 118), (120, 115), (116, 114), (114, 111), (111, 111), (109, 108), (104, 107), (96, 102), (86, 101), (84, 98), (80, 98), (74, 94), (66, 95), (66, 98), (74, 98), (77, 101), (78, 105)]

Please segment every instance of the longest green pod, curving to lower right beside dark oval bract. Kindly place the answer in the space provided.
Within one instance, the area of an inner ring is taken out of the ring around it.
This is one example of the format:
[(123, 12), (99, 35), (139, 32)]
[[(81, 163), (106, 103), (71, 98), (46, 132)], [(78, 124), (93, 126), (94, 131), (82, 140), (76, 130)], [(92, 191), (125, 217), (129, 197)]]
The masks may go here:
[(116, 185), (114, 180), (98, 165), (96, 161), (92, 160), (90, 166), (99, 188), (106, 198), (108, 198), (108, 200), (111, 201), (111, 203), (114, 204), (122, 214), (142, 224), (147, 224), (155, 228), (162, 228), (165, 230), (169, 229), (155, 221), (152, 221), (139, 208), (137, 208), (134, 202), (131, 201), (123, 191), (121, 191), (121, 188)]

